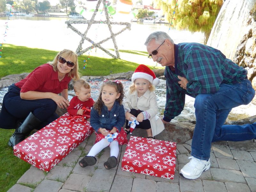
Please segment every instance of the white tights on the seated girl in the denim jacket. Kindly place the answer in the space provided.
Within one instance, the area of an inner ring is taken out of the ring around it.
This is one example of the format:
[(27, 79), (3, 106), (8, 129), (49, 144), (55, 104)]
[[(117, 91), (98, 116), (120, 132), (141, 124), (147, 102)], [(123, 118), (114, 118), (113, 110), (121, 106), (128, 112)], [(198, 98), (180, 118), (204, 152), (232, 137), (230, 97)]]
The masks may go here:
[(119, 153), (119, 147), (117, 141), (108, 142), (106, 138), (100, 140), (98, 143), (95, 143), (87, 156), (96, 156), (100, 151), (106, 147), (110, 147), (110, 156), (115, 156), (117, 158)]

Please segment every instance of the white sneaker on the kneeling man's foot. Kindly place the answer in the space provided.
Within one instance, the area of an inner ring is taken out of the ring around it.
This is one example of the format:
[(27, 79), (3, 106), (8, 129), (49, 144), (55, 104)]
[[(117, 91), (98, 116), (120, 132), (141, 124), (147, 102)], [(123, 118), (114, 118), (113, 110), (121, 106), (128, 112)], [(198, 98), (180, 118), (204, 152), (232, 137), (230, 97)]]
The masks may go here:
[(195, 157), (188, 158), (192, 159), (180, 170), (180, 175), (187, 179), (197, 179), (203, 171), (207, 171), (211, 166), (210, 159), (208, 161), (204, 161)]

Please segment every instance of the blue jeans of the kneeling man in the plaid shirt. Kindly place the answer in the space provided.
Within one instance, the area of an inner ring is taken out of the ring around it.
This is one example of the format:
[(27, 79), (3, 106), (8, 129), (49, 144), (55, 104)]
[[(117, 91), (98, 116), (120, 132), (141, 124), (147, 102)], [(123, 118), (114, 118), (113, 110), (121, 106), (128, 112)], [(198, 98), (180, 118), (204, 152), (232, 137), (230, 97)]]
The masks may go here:
[(234, 85), (221, 84), (214, 94), (198, 94), (195, 99), (196, 126), (192, 138), (191, 155), (201, 160), (210, 158), (213, 141), (251, 140), (256, 136), (256, 128), (232, 129), (223, 125), (232, 108), (247, 105), (255, 95), (248, 79)]

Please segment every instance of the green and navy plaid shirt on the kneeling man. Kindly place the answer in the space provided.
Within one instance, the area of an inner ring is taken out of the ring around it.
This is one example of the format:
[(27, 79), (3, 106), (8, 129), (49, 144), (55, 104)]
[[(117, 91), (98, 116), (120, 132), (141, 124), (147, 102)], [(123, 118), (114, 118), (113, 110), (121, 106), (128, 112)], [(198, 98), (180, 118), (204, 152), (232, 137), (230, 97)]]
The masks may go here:
[[(236, 84), (247, 76), (247, 70), (227, 59), (222, 52), (198, 43), (174, 44), (175, 68), (166, 66), (166, 104), (164, 121), (180, 115), (185, 94), (196, 98), (200, 93), (215, 93), (220, 84)], [(189, 82), (187, 90), (180, 87), (179, 76)]]

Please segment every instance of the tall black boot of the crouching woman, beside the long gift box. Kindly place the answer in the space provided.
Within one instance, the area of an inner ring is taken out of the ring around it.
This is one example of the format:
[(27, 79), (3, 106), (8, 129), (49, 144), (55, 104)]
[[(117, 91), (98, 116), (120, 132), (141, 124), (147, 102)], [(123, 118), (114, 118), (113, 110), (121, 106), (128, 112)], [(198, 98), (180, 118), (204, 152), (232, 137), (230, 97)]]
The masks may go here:
[(41, 121), (30, 112), (24, 122), (20, 125), (20, 127), (17, 128), (12, 134), (8, 145), (10, 147), (14, 147), (15, 145), (23, 141), (33, 129), (37, 128), (40, 123)]

